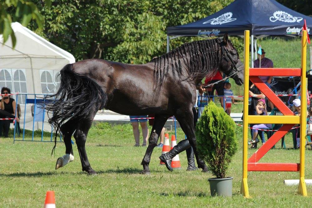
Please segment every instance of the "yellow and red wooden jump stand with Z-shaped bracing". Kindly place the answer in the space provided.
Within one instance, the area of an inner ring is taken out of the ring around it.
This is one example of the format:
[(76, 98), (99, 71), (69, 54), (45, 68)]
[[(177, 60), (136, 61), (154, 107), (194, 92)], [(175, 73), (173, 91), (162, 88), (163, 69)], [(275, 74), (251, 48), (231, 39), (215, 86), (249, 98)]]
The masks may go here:
[[(245, 31), (244, 39), (244, 113), (243, 113), (243, 177), (241, 194), (249, 196), (248, 171), (295, 171), (300, 172), (298, 193), (307, 196), (305, 184), (305, 134), (307, 118), (307, 84), (306, 84), (306, 40), (307, 31), (302, 31), (301, 68), (249, 68), (249, 31)], [(293, 115), (292, 111), (263, 83), (259, 76), (301, 76), (301, 114)], [(253, 116), (248, 115), (249, 80), (284, 114), (283, 116)], [(248, 124), (250, 123), (281, 123), (283, 126), (273, 134), (249, 159)], [(294, 124), (300, 124), (300, 163), (259, 163), (258, 161), (283, 137)]]

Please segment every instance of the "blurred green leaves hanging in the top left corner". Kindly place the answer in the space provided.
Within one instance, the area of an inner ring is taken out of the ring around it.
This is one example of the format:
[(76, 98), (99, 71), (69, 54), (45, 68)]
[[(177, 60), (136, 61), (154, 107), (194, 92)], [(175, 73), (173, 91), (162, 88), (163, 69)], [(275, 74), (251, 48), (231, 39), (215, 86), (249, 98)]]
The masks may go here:
[[(51, 0), (45, 0), (45, 2), (49, 7)], [(23, 26), (27, 26), (31, 20), (36, 21), (40, 30), (43, 28), (43, 17), (33, 2), (25, 0), (0, 1), (0, 34), (3, 35), (3, 43), (11, 36), (12, 45), (15, 47), (16, 38), (11, 23), (21, 22)]]

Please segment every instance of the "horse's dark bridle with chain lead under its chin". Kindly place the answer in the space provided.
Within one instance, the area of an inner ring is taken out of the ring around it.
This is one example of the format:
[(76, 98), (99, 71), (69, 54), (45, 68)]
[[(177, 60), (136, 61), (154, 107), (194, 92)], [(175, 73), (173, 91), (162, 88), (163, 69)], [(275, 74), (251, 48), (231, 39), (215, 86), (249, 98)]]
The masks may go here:
[(238, 72), (244, 70), (244, 69), (241, 69), (241, 70), (237, 69), (237, 68), (239, 68), (243, 64), (238, 62), (238, 60), (239, 60), (238, 56), (237, 56), (237, 60), (236, 61), (234, 61), (232, 59), (232, 56), (230, 56), (230, 53), (225, 48), (225, 44), (224, 44), (223, 41), (221, 41), (221, 56), (222, 56), (222, 60), (225, 59), (228, 63), (231, 64), (232, 70), (230, 71), (229, 75), (227, 77), (225, 77), (224, 79), (218, 80), (218, 81), (216, 81), (214, 83), (211, 83), (209, 85), (206, 85), (206, 86), (202, 86), (202, 88), (209, 88), (210, 86), (215, 85), (215, 84), (217, 84), (219, 82), (222, 82), (222, 81), (224, 81), (224, 80), (226, 80), (226, 79), (236, 75)]

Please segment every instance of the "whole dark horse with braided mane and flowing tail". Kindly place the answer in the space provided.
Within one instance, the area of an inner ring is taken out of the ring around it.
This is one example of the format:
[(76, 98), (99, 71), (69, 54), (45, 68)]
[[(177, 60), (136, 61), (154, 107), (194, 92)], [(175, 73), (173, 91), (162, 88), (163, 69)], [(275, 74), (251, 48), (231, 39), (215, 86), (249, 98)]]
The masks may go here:
[(236, 84), (242, 85), (243, 65), (227, 34), (223, 39), (186, 43), (144, 65), (100, 59), (67, 64), (60, 72), (59, 90), (50, 96), (56, 98), (55, 102), (46, 106), (53, 113), (49, 123), (56, 135), (62, 134), (66, 146), (66, 155), (58, 158), (56, 169), (73, 161), (71, 135), (75, 132), (82, 170), (96, 173), (88, 161), (85, 141), (96, 112), (106, 108), (124, 115), (155, 114), (141, 173), (150, 173), (151, 154), (171, 116), (176, 117), (193, 147), (198, 167), (207, 171), (197, 154), (192, 108), (195, 86), (218, 70), (232, 75)]

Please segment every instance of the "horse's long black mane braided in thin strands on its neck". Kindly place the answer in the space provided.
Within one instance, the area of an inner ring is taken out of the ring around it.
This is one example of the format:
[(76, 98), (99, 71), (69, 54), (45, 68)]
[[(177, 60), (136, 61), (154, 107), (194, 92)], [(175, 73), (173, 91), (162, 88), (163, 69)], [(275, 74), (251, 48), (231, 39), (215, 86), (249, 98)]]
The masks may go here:
[(173, 79), (178, 78), (179, 81), (195, 81), (198, 78), (215, 75), (221, 61), (220, 46), (220, 38), (193, 41), (154, 58), (152, 60), (154, 61), (155, 87), (153, 100), (158, 99), (160, 88), (167, 77), (169, 68), (172, 70)]

